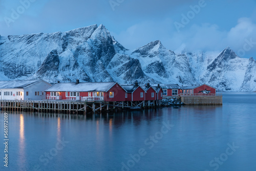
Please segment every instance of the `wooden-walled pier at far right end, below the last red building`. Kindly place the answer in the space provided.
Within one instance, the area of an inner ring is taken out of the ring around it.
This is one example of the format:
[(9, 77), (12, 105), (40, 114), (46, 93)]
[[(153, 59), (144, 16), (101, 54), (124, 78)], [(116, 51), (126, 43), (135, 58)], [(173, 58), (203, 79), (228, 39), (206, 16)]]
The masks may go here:
[(222, 105), (222, 95), (180, 95), (177, 97), (186, 105)]

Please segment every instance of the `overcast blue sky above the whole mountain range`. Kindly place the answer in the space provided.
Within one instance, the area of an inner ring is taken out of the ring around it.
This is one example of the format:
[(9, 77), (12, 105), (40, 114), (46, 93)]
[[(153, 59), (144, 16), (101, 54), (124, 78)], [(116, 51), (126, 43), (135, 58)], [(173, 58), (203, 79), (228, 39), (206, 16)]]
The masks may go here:
[(0, 35), (103, 24), (127, 49), (161, 40), (170, 50), (221, 51), (256, 59), (256, 0), (0, 0)]

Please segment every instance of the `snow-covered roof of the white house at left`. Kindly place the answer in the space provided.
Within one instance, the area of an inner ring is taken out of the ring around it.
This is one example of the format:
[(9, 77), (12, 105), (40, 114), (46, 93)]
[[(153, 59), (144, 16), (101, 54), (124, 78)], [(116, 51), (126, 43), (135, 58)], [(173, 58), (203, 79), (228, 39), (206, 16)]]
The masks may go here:
[(0, 81), (0, 89), (24, 89), (38, 81), (41, 81), (41, 80)]

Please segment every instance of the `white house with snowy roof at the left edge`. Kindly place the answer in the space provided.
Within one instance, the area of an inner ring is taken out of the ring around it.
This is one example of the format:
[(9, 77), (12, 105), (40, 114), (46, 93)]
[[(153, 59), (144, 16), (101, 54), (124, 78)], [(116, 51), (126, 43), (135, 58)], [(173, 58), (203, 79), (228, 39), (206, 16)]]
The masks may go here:
[(42, 100), (52, 84), (44, 80), (0, 81), (2, 100)]

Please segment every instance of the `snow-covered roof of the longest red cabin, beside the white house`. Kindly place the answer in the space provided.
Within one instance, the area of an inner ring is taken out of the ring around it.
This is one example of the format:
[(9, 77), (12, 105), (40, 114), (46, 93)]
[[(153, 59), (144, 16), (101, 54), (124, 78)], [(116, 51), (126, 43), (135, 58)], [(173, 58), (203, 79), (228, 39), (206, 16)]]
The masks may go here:
[(47, 89), (49, 92), (107, 92), (116, 82), (61, 82)]

